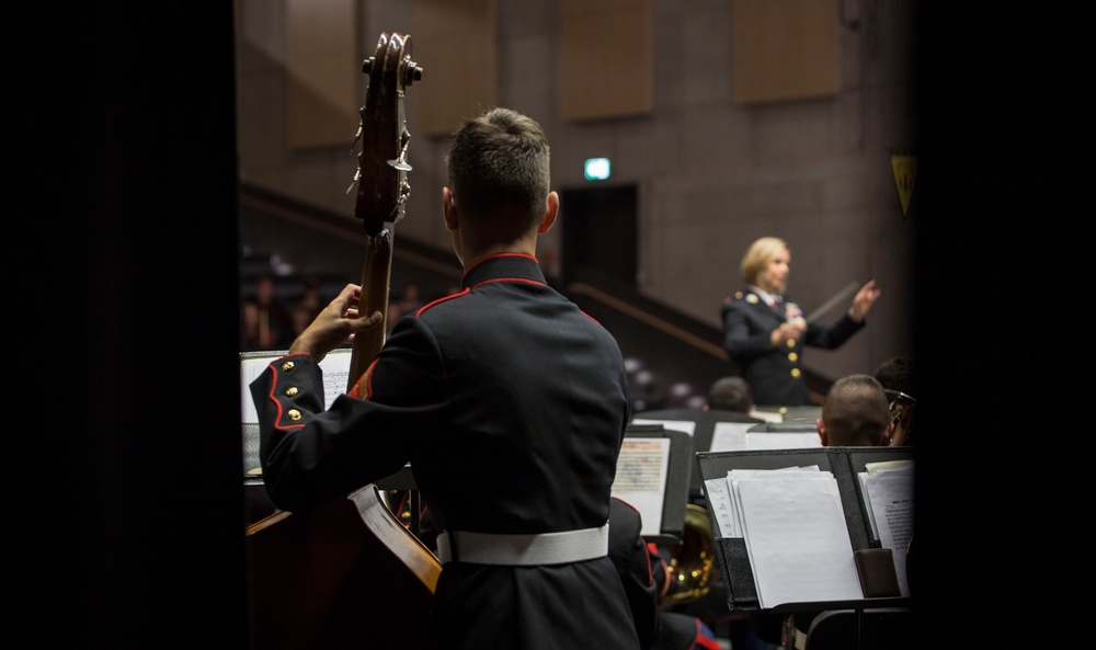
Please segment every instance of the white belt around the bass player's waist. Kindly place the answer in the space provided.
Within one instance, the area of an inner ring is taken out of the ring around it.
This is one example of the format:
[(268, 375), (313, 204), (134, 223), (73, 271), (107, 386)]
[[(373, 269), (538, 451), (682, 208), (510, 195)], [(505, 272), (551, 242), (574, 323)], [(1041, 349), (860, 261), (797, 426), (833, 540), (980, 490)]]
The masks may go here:
[(608, 555), (609, 525), (540, 535), (492, 535), (446, 531), (437, 536), (437, 558), (476, 565), (562, 565)]

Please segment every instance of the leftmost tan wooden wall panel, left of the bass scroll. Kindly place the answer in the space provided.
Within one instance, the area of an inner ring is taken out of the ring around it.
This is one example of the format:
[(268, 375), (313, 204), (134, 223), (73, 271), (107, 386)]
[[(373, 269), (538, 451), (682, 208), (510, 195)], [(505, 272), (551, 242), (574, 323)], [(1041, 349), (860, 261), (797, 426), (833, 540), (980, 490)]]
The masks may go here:
[(354, 3), (286, 0), (286, 122), (290, 148), (350, 146), (357, 130), (362, 61)]

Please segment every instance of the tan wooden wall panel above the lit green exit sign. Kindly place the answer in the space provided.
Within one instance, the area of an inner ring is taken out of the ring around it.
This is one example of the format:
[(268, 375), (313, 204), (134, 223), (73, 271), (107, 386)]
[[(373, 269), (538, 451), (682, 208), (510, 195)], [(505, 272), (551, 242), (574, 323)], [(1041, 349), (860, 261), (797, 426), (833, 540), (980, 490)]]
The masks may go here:
[(597, 119), (654, 107), (651, 0), (560, 2), (560, 114)]

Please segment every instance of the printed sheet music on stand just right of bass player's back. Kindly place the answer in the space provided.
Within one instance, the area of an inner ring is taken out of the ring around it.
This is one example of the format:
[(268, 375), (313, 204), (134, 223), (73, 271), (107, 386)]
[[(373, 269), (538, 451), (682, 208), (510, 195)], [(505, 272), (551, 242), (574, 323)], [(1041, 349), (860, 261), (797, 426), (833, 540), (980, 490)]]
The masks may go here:
[(662, 508), (670, 467), (669, 437), (625, 437), (612, 493), (630, 503), (643, 520), (641, 535), (662, 532)]

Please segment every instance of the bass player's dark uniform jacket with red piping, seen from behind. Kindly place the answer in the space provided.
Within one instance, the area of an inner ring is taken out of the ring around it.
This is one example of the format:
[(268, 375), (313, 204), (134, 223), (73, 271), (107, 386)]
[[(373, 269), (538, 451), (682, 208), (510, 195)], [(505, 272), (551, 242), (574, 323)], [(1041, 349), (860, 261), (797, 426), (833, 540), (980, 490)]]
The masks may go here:
[[(620, 350), (528, 255), (489, 258), (465, 274), (460, 293), (402, 317), (352, 391), (361, 397), (340, 395), (324, 411), (308, 355), (274, 362), (251, 391), (263, 479), (283, 510), (312, 508), (410, 461), (439, 529), (540, 534), (609, 518), (630, 418)], [(638, 648), (608, 556), (447, 562), (430, 626), (439, 648)]]

